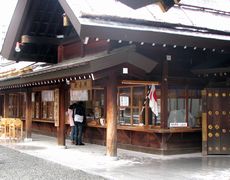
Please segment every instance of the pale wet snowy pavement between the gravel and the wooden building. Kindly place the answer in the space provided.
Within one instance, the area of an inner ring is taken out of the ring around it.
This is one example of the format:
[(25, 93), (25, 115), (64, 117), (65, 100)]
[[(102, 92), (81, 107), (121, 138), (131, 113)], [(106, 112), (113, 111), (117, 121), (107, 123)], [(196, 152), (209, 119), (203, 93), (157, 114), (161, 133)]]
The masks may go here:
[(104, 146), (75, 146), (67, 140), (65, 149), (57, 146), (55, 138), (37, 134), (31, 142), (2, 145), (109, 179), (230, 179), (230, 156), (162, 156), (118, 149), (118, 157), (111, 158)]

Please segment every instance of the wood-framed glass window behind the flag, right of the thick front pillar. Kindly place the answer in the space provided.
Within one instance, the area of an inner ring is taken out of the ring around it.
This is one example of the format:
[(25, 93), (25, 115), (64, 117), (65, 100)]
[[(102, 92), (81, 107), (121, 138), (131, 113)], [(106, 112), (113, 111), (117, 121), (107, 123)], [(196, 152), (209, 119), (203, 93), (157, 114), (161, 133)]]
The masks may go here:
[[(118, 88), (118, 123), (121, 125), (143, 126), (160, 124), (160, 114), (155, 116), (148, 106), (148, 86), (134, 85)], [(157, 90), (157, 96), (159, 96)], [(158, 97), (160, 107), (160, 97)], [(159, 108), (160, 110), (160, 108)]]

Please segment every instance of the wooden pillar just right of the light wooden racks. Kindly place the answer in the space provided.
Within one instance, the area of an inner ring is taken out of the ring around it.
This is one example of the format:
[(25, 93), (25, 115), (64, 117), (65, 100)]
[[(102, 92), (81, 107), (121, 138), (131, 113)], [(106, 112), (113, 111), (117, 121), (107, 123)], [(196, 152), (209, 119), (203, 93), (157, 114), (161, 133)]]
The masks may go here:
[(26, 126), (25, 126), (26, 139), (31, 139), (32, 135), (32, 92), (26, 92)]

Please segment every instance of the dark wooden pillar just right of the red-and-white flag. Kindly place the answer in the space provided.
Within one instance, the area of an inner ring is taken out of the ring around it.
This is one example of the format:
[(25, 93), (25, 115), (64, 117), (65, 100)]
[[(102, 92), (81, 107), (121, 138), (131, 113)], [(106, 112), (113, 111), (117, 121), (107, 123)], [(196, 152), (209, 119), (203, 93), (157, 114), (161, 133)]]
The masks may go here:
[(167, 128), (168, 122), (168, 62), (163, 62), (161, 81), (161, 128)]

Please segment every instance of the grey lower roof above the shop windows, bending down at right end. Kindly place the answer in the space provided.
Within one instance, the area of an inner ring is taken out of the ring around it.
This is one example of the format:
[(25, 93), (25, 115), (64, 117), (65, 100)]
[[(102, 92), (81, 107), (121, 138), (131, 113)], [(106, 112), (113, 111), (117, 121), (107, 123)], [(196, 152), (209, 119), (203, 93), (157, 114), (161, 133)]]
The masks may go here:
[(0, 87), (96, 73), (127, 63), (146, 73), (156, 66), (155, 61), (136, 53), (135, 46), (128, 46), (110, 53), (102, 52), (80, 59), (72, 59), (37, 72), (7, 78), (1, 80)]

